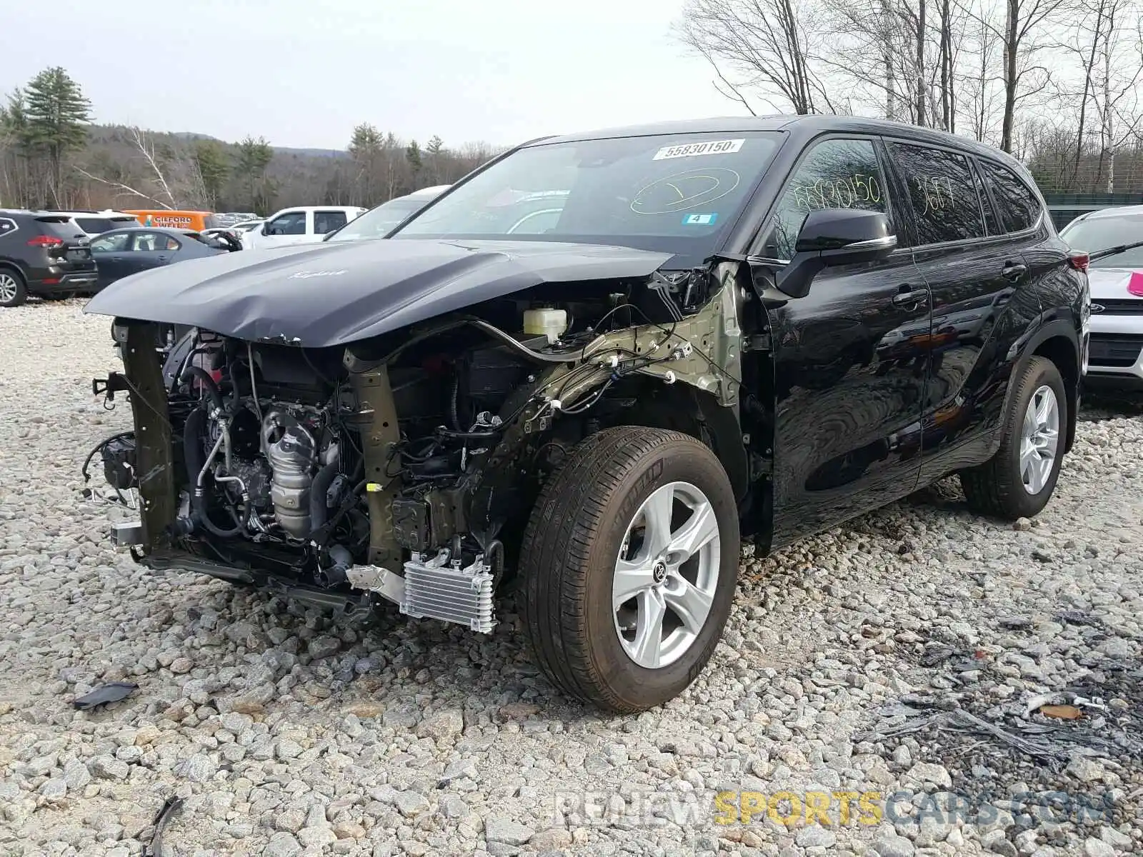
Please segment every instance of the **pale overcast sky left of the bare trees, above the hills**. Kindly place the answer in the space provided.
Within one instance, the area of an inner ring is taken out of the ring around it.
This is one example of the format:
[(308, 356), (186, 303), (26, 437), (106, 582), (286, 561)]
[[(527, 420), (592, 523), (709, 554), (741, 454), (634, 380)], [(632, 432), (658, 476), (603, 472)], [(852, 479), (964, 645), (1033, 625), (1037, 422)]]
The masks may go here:
[[(11, 2), (0, 90), (62, 65), (99, 122), (344, 149), (730, 115), (670, 33), (682, 0)], [(46, 17), (47, 16), (47, 17)]]

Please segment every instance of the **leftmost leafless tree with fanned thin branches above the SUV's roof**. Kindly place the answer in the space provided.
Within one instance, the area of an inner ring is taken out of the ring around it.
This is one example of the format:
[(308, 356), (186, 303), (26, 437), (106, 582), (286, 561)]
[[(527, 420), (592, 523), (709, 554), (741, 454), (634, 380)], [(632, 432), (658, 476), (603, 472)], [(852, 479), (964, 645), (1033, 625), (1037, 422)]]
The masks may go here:
[(777, 110), (836, 112), (810, 61), (813, 10), (794, 0), (689, 0), (677, 34), (714, 67), (716, 89), (751, 113), (745, 89)]

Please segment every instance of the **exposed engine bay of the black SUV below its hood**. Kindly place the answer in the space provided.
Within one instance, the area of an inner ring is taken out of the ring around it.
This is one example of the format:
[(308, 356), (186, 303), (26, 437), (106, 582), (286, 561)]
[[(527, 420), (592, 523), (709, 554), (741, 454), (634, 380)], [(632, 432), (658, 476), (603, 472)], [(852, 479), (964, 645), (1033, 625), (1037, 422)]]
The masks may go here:
[(717, 285), (703, 271), (585, 283), (575, 302), (533, 290), (347, 349), (197, 328), (171, 345), (117, 319), (126, 371), (95, 389), (129, 394), (136, 432), (99, 451), (109, 483), (144, 497), (143, 532), (121, 540), (152, 567), (193, 556), (487, 632), (534, 498), (575, 443), (678, 382), (736, 402), (725, 320), (740, 296)]

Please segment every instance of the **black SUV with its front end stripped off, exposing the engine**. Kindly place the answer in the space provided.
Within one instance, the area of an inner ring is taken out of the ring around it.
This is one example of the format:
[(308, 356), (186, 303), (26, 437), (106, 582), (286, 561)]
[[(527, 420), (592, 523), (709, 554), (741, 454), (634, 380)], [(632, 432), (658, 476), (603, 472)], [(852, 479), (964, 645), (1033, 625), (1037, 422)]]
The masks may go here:
[[(1052, 496), (1087, 257), (1028, 170), (839, 117), (526, 143), (384, 239), (121, 280), (134, 441), (104, 447), (192, 569), (487, 633), (514, 578), (538, 665), (634, 712), (703, 668), (740, 534), (773, 551), (959, 474)], [(157, 351), (165, 325), (193, 328)], [(137, 475), (136, 475), (137, 474)], [(427, 639), (427, 638), (426, 638)]]

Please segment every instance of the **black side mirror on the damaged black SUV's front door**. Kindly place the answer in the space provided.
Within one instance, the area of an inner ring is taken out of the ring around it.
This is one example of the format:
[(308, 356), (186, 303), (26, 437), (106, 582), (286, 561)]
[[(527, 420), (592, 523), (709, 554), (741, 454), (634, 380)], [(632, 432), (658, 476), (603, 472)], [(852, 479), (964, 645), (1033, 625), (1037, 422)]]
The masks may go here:
[(805, 297), (822, 269), (884, 259), (896, 246), (889, 219), (879, 211), (810, 211), (798, 233), (794, 256), (778, 273), (776, 286), (790, 297)]

